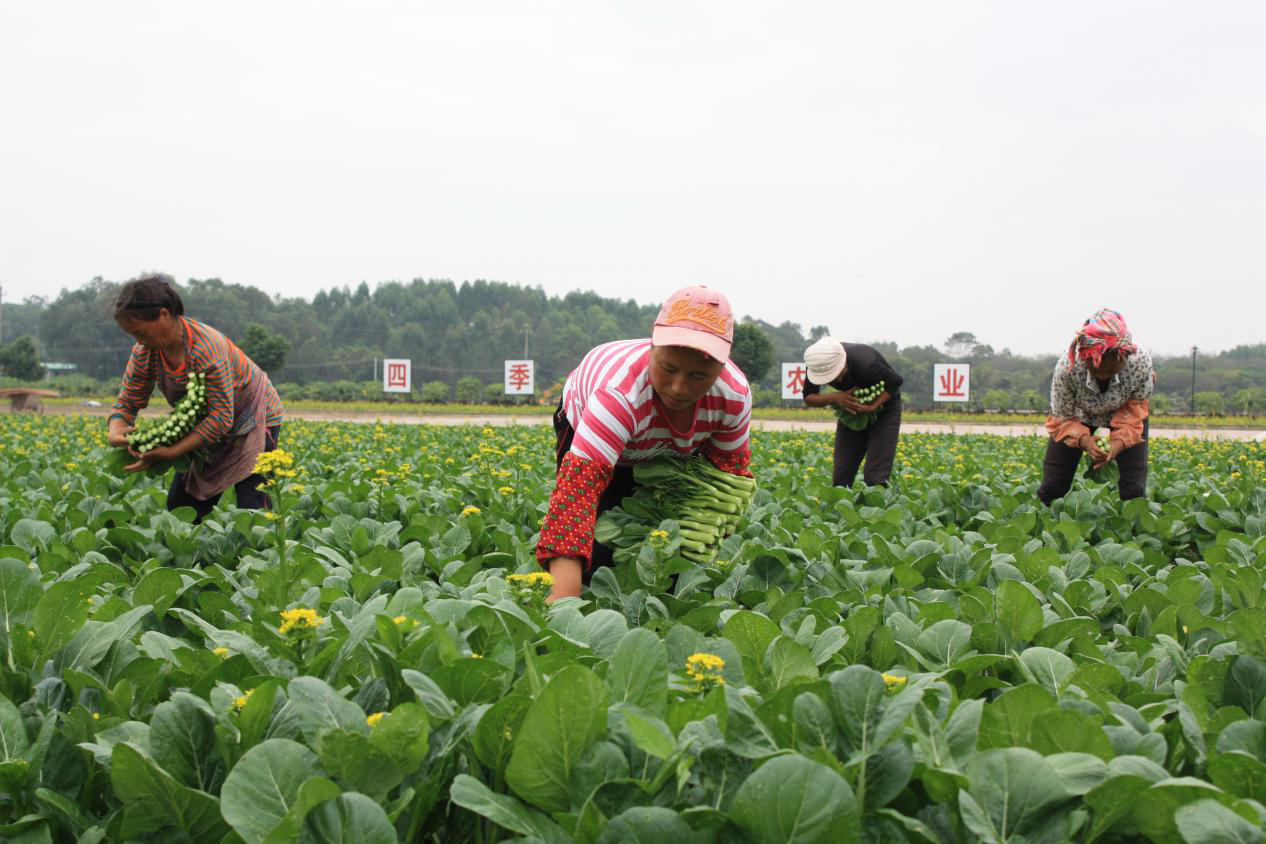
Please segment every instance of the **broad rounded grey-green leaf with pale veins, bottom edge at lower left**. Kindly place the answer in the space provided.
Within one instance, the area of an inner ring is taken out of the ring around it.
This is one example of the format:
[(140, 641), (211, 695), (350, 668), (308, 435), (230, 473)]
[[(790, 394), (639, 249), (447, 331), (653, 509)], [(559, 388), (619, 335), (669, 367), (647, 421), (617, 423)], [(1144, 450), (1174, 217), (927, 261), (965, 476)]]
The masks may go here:
[(323, 777), (316, 754), (287, 739), (268, 739), (246, 752), (220, 790), (224, 820), (247, 844), (258, 844), (299, 800), (299, 788)]

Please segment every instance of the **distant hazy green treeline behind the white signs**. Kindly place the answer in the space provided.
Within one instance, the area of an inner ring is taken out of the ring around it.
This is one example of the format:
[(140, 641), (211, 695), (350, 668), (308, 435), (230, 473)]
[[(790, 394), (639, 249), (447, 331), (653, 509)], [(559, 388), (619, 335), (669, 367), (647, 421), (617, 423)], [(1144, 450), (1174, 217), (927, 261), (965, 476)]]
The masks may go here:
[[(67, 391), (113, 390), (129, 349), (109, 315), (116, 289), (118, 282), (94, 278), (53, 300), (6, 304), (3, 340), (32, 337), (43, 363), (73, 364), (77, 377), (54, 375)], [(656, 306), (632, 299), (592, 292), (548, 296), (539, 287), (492, 281), (458, 285), (418, 278), (372, 290), (361, 283), (354, 290), (323, 290), (310, 300), (275, 297), (218, 278), (190, 280), (180, 290), (190, 316), (220, 329), (248, 352), (253, 345), (284, 394), (310, 399), (377, 397), (375, 359), (406, 357), (413, 359), (415, 399), (438, 401), (444, 392), (443, 400), (486, 400), (498, 394), (503, 361), (524, 357), (524, 343), (527, 357), (537, 362), (538, 397), (556, 397), (557, 386), (585, 352), (608, 340), (647, 337), (656, 315)], [(779, 362), (799, 361), (827, 329), (746, 321), (761, 329), (772, 353), (753, 358), (771, 359), (755, 378), (757, 401), (779, 404)], [(972, 409), (1044, 411), (1056, 354), (995, 352), (987, 340), (958, 333), (942, 348), (876, 347), (905, 378), (909, 407), (932, 407), (932, 364), (958, 361), (972, 364)], [(1156, 410), (1186, 410), (1191, 358), (1160, 357), (1156, 369)], [(1195, 400), (1201, 413), (1266, 411), (1266, 343), (1200, 356)]]

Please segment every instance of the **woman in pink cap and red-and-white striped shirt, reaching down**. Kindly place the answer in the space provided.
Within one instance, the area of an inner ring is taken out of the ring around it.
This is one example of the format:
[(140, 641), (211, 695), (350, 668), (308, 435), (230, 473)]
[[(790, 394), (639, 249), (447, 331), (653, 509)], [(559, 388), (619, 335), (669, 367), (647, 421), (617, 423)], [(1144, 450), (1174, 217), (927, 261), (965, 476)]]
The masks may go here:
[(717, 468), (751, 477), (752, 391), (729, 359), (734, 316), (706, 287), (679, 290), (648, 340), (589, 352), (555, 413), (558, 478), (537, 561), (553, 576), (549, 600), (580, 595), (611, 552), (594, 542), (598, 515), (633, 491), (632, 464), (700, 452)]

